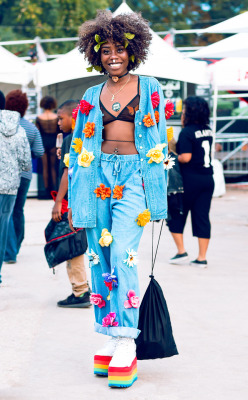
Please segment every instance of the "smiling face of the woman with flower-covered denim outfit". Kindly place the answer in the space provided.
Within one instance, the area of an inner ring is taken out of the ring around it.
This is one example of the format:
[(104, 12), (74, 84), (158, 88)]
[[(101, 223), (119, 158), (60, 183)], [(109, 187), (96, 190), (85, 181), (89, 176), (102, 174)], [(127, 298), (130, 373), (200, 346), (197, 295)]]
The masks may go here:
[(128, 52), (120, 43), (108, 40), (101, 46), (101, 62), (110, 75), (123, 75), (127, 72), (129, 63)]

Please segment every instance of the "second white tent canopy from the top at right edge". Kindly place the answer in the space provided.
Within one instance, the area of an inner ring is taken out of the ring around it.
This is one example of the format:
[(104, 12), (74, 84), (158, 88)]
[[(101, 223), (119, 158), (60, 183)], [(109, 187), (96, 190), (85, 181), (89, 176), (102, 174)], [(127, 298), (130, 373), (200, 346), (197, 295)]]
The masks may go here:
[(248, 33), (238, 33), (190, 53), (193, 58), (248, 57)]

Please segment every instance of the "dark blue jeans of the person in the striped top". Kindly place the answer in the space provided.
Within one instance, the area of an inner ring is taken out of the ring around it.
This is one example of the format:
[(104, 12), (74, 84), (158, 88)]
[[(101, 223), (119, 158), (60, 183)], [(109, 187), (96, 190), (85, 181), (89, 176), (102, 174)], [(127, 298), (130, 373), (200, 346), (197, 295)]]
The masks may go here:
[(16, 261), (22, 241), (24, 239), (24, 205), (27, 198), (30, 180), (21, 178), (21, 183), (17, 192), (13, 213), (9, 220), (8, 237), (4, 261)]

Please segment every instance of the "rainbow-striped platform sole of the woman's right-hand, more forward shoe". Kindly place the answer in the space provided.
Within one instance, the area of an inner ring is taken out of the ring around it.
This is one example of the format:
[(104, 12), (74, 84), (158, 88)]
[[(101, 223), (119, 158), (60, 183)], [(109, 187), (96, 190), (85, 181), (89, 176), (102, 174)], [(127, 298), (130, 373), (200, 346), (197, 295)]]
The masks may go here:
[(109, 367), (108, 385), (110, 387), (129, 387), (138, 379), (137, 358), (133, 360), (130, 367)]

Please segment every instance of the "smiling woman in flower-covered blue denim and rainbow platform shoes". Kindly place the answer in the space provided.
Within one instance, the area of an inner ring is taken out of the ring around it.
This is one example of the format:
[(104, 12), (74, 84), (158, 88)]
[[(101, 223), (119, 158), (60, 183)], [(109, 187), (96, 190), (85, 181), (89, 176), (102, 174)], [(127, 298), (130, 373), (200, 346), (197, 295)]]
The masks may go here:
[(95, 354), (95, 373), (108, 375), (109, 386), (128, 387), (137, 379), (138, 245), (150, 219), (166, 218), (165, 105), (156, 79), (130, 74), (145, 61), (151, 41), (139, 14), (102, 11), (79, 36), (91, 68), (108, 78), (79, 105), (69, 221), (72, 229), (86, 228), (95, 330), (111, 337)]

